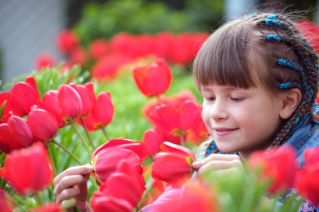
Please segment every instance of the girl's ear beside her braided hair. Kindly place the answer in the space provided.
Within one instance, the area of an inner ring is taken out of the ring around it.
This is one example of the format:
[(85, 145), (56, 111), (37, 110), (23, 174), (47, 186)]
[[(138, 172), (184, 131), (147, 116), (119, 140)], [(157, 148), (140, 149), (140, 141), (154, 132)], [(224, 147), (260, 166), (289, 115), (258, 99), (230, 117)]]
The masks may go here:
[(282, 108), (279, 113), (282, 119), (289, 118), (295, 112), (301, 101), (301, 96), (298, 88), (292, 88), (282, 96)]

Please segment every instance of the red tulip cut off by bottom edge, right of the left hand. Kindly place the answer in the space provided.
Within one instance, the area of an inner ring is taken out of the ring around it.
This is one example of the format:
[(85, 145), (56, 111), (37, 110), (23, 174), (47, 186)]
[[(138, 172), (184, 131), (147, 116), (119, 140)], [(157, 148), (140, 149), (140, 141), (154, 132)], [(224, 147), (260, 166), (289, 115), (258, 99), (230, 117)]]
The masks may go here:
[(134, 209), (126, 200), (101, 191), (93, 193), (90, 203), (94, 212), (132, 212)]

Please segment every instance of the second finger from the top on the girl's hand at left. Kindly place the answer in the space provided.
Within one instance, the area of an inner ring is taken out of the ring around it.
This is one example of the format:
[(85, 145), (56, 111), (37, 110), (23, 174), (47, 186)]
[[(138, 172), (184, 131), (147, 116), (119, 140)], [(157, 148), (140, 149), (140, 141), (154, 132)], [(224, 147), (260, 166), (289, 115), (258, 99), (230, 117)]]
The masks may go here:
[(55, 185), (53, 194), (55, 197), (59, 197), (60, 194), (68, 189), (73, 187), (74, 185), (85, 184), (87, 185), (87, 178), (83, 175), (70, 175), (63, 177), (58, 184)]

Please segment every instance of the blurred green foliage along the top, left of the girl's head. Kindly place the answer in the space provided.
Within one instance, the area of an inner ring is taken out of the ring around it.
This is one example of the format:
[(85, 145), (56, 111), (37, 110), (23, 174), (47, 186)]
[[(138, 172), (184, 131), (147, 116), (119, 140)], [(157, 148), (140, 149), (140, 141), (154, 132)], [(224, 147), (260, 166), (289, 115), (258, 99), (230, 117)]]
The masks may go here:
[(73, 29), (82, 45), (87, 46), (94, 39), (110, 39), (120, 32), (208, 32), (217, 26), (223, 14), (223, 0), (187, 0), (180, 10), (159, 1), (112, 0), (87, 4)]

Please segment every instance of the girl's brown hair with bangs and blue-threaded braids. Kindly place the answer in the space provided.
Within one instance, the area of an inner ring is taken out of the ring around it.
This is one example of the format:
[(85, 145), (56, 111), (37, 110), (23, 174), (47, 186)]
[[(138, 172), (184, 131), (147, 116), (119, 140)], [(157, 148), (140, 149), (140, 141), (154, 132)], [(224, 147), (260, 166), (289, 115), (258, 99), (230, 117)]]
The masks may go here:
[(199, 90), (210, 84), (247, 89), (257, 83), (274, 95), (300, 89), (299, 106), (283, 121), (271, 146), (283, 144), (313, 119), (317, 56), (288, 14), (260, 11), (225, 23), (204, 42), (192, 69)]

